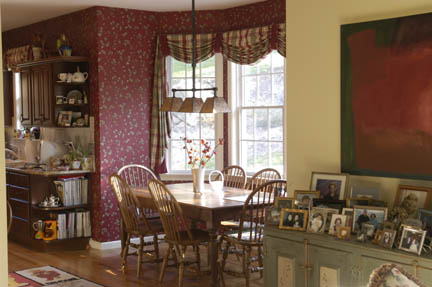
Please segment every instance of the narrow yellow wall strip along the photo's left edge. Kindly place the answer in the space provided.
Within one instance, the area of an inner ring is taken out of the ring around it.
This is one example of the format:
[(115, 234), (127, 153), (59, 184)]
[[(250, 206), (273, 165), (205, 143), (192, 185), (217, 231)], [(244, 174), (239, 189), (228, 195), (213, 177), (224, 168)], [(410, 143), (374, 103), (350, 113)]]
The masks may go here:
[[(1, 31), (1, 15), (0, 15)], [(2, 44), (0, 37), (0, 55), (2, 53)], [(2, 58), (0, 57), (0, 67), (3, 67)], [(3, 110), (3, 73), (0, 73), (0, 151), (4, 151), (4, 110)], [(0, 152), (0, 193), (3, 200), (0, 200), (0, 286), (7, 286), (7, 229), (6, 229), (6, 163), (5, 153)]]

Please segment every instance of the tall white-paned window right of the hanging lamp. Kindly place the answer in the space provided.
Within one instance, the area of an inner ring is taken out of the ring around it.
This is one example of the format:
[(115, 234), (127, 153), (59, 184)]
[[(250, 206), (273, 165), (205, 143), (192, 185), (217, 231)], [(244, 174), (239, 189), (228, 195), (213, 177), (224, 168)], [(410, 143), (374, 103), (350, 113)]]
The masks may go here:
[[(284, 169), (284, 63), (273, 51), (253, 65), (232, 66), (233, 154), (247, 172)], [(236, 138), (236, 139), (235, 139)]]

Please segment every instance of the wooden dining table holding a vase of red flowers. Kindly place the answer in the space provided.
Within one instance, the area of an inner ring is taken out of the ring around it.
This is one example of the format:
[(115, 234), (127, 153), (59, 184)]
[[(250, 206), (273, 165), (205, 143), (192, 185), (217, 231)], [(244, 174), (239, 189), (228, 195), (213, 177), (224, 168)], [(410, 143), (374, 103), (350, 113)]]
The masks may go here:
[[(209, 184), (204, 184), (204, 189), (195, 193), (192, 183), (168, 184), (167, 188), (179, 203), (185, 218), (189, 218), (192, 222), (205, 223), (210, 235), (208, 251), (211, 286), (219, 286), (218, 228), (222, 221), (239, 218), (243, 204), (251, 191), (232, 187), (223, 187), (220, 191), (213, 191)], [(148, 189), (133, 188), (133, 190), (142, 208), (156, 209)]]

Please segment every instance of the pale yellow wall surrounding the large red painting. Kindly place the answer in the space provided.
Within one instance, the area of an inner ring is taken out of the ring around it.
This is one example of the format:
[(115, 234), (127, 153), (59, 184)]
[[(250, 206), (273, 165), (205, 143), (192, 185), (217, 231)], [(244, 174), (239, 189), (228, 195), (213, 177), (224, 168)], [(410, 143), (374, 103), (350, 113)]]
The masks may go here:
[[(432, 12), (430, 0), (287, 0), (286, 142), (291, 191), (309, 188), (312, 171), (340, 172), (340, 25)], [(432, 163), (431, 163), (432, 164)], [(390, 204), (399, 183), (377, 177)]]

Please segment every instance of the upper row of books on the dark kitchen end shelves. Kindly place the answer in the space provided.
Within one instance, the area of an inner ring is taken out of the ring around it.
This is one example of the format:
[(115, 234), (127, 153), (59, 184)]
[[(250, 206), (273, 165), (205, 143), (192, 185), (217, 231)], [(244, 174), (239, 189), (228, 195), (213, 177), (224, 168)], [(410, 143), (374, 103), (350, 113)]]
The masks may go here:
[(54, 181), (57, 195), (63, 206), (74, 206), (88, 203), (88, 178), (69, 177)]

